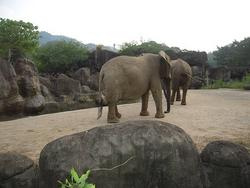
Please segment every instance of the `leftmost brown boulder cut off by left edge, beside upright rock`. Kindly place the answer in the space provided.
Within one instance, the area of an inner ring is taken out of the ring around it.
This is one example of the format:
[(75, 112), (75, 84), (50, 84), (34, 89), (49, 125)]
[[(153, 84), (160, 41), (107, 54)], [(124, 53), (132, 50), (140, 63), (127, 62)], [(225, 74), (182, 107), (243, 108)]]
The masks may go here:
[(16, 73), (11, 63), (0, 59), (0, 114), (23, 111), (24, 99), (19, 94)]

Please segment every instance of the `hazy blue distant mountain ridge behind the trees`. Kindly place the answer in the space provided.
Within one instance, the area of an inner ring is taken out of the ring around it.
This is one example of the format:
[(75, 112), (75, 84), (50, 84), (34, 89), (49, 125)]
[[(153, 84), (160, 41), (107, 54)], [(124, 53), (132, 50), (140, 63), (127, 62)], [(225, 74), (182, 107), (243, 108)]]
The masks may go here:
[[(76, 39), (73, 39), (73, 38), (70, 38), (70, 37), (67, 37), (67, 36), (63, 36), (63, 35), (52, 35), (52, 34), (46, 32), (46, 31), (39, 32), (39, 43), (40, 43), (40, 45), (44, 45), (44, 44), (46, 44), (47, 42), (50, 42), (50, 41), (61, 41), (61, 40), (64, 40), (64, 41), (77, 41)], [(88, 43), (88, 44), (84, 44), (84, 45), (86, 46), (86, 48), (88, 48), (89, 51), (94, 51), (96, 49), (96, 46), (97, 46), (96, 44), (93, 44), (93, 43)], [(114, 49), (113, 47), (110, 47), (110, 46), (103, 46), (102, 49), (109, 50), (109, 51), (114, 51), (114, 52), (118, 51), (117, 49)]]

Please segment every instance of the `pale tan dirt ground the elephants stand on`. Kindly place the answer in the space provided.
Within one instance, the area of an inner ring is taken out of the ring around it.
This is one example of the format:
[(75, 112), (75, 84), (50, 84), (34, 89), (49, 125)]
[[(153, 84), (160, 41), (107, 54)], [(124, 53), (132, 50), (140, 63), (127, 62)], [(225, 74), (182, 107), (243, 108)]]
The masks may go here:
[[(121, 122), (155, 119), (155, 106), (149, 102), (150, 116), (139, 116), (141, 103), (119, 105)], [(164, 100), (164, 108), (166, 108)], [(106, 124), (107, 108), (96, 120), (97, 108), (26, 117), (0, 122), (0, 152), (16, 151), (38, 161), (42, 148), (64, 135)], [(175, 102), (171, 113), (159, 119), (184, 129), (201, 150), (210, 141), (230, 140), (250, 150), (250, 92), (219, 89), (189, 90), (187, 105)]]

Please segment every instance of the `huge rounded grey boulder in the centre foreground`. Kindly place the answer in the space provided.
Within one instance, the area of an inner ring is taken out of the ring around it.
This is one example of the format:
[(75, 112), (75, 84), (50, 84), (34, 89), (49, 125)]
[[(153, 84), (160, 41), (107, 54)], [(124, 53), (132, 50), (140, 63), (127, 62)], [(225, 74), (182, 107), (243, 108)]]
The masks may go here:
[(98, 188), (203, 187), (193, 141), (160, 121), (130, 121), (59, 138), (43, 148), (39, 167), (50, 188), (72, 167), (79, 173), (91, 169), (88, 181)]

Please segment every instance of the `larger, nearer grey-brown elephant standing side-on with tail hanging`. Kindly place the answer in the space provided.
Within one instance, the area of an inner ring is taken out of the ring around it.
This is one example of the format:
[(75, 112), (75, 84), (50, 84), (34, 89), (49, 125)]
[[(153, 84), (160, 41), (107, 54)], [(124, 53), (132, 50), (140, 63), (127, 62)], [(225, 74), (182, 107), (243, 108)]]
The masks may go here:
[[(163, 81), (161, 81), (161, 79)], [(159, 54), (146, 53), (139, 57), (119, 56), (106, 62), (100, 71), (99, 92), (101, 107), (98, 119), (102, 115), (102, 105), (108, 105), (109, 123), (119, 122), (119, 100), (142, 99), (141, 116), (148, 116), (149, 91), (156, 105), (156, 118), (163, 118), (162, 84), (170, 91), (170, 58), (160, 51)], [(170, 102), (170, 95), (169, 95)]]

